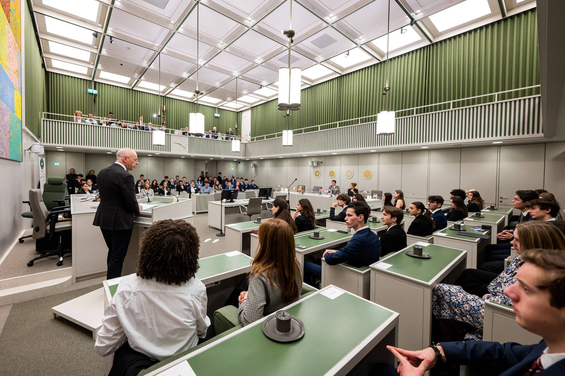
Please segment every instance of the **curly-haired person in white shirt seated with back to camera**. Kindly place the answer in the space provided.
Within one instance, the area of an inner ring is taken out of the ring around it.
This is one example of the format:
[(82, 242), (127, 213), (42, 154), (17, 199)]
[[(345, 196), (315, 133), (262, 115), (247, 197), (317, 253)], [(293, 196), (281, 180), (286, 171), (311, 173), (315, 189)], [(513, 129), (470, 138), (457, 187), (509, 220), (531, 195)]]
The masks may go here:
[(121, 277), (94, 344), (100, 356), (114, 354), (109, 375), (137, 375), (206, 337), (206, 286), (195, 277), (199, 244), (196, 229), (181, 219), (145, 231), (137, 272)]

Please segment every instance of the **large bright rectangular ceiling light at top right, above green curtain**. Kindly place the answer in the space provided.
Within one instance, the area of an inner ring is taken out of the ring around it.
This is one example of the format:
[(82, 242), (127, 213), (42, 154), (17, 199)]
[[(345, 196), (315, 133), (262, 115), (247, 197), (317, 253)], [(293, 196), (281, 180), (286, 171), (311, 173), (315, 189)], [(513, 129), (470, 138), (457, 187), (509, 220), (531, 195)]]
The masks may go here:
[(488, 0), (465, 0), (429, 16), (438, 32), (444, 32), (490, 14)]

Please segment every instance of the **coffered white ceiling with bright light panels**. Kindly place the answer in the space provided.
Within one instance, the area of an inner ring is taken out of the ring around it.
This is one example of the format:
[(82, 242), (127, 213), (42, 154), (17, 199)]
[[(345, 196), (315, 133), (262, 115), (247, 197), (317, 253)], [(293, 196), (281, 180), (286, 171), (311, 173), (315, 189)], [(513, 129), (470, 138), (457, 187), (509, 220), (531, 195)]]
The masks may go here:
[[(51, 72), (188, 101), (198, 85), (199, 102), (241, 110), (277, 97), (290, 1), (32, 0), (32, 8)], [(292, 1), (291, 65), (303, 69), (302, 88), (385, 59), (389, 0)], [(390, 0), (389, 57), (534, 6)]]

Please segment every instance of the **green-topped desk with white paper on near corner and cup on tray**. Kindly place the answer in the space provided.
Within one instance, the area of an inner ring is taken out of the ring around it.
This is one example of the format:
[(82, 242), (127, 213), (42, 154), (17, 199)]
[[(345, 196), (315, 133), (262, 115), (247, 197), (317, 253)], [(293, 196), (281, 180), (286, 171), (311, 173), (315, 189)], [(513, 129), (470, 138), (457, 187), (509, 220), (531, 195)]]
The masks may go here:
[(371, 265), (371, 302), (400, 313), (398, 346), (406, 350), (429, 346), (433, 287), (453, 283), (467, 264), (467, 251), (421, 245), (431, 258), (408, 256), (410, 246)]

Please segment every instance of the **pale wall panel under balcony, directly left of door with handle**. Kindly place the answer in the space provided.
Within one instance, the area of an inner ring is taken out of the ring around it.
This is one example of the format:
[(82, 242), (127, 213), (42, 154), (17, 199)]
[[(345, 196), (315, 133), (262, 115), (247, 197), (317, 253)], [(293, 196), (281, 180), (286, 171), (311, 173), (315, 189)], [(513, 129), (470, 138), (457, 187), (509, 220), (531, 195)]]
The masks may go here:
[(461, 149), (460, 183), (451, 189), (475, 188), (479, 190), (485, 203), (497, 202), (497, 158), (498, 147), (496, 146)]

